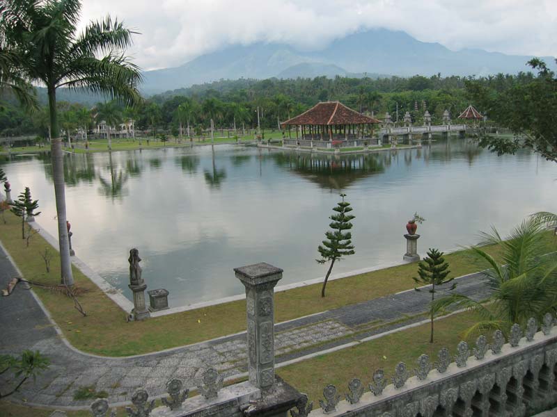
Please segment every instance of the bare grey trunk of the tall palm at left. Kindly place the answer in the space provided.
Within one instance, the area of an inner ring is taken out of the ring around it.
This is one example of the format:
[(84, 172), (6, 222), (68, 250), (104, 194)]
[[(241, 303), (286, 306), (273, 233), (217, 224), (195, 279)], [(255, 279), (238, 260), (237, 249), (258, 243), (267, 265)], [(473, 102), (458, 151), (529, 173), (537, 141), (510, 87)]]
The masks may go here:
[(56, 218), (58, 219), (58, 245), (60, 247), (61, 283), (72, 286), (72, 262), (70, 261), (70, 243), (65, 217), (65, 183), (64, 161), (62, 156), (62, 140), (58, 131), (56, 117), (56, 90), (48, 88), (48, 104), (50, 113), (50, 154), (52, 156), (52, 177), (54, 179), (54, 195), (56, 196)]

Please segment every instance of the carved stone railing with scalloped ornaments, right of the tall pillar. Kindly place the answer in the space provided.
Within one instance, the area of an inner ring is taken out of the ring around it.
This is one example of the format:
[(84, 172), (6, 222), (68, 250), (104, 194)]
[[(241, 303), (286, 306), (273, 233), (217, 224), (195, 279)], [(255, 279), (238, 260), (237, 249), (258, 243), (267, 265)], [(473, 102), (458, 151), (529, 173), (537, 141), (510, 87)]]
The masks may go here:
[[(360, 379), (352, 379), (343, 401), (336, 387), (328, 385), (323, 391), (324, 400), (320, 400), (321, 408), (310, 415), (532, 416), (557, 402), (554, 321), (554, 316), (547, 313), (538, 332), (538, 323), (531, 318), (524, 334), (515, 324), (508, 343), (499, 330), (494, 332), (491, 345), (485, 336), (479, 336), (472, 356), (468, 343), (462, 341), (453, 363), (446, 348), (439, 350), (434, 363), (427, 354), (422, 354), (416, 361), (413, 377), (409, 366), (400, 362), (390, 385), (384, 371), (377, 370), (368, 384), (368, 392)], [(311, 410), (312, 406), (303, 404), (302, 409)], [(298, 414), (299, 411), (292, 416)]]

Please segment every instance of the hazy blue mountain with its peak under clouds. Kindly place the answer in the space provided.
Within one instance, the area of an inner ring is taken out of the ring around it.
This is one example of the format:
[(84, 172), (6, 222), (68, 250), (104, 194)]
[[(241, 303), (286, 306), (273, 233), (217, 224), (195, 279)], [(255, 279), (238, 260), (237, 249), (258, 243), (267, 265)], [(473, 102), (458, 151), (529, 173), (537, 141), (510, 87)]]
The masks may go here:
[[(180, 67), (143, 73), (142, 91), (154, 94), (219, 79), (266, 79), (360, 74), (483, 76), (527, 71), (531, 56), (481, 49), (451, 51), (421, 42), (405, 32), (372, 29), (347, 35), (320, 51), (299, 51), (288, 44), (235, 45), (199, 56)], [(551, 68), (554, 58), (542, 57)]]

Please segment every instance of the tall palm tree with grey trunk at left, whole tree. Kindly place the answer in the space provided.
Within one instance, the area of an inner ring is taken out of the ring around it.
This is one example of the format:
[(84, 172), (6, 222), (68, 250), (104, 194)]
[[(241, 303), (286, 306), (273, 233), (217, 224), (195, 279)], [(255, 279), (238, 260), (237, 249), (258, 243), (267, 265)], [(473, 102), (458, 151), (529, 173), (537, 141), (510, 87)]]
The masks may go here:
[(56, 113), (56, 89), (103, 93), (127, 104), (141, 96), (139, 68), (125, 56), (133, 32), (106, 17), (90, 22), (77, 33), (79, 0), (3, 0), (0, 32), (17, 58), (19, 75), (47, 88), (51, 126), (51, 154), (58, 219), (61, 281), (72, 285), (73, 275), (66, 227), (62, 142)]

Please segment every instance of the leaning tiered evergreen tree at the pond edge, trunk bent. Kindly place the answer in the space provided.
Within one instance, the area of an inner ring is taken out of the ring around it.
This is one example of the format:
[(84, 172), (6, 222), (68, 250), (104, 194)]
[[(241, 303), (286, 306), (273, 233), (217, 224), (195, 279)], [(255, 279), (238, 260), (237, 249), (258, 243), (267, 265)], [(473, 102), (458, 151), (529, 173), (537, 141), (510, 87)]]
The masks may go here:
[(329, 266), (329, 270), (323, 281), (323, 287), (321, 288), (321, 297), (325, 296), (325, 286), (327, 286), (327, 280), (329, 279), (329, 275), (331, 275), (331, 270), (333, 269), (335, 261), (340, 261), (340, 259), (343, 259), (343, 256), (353, 255), (355, 253), (354, 245), (352, 245), (351, 240), (352, 234), (349, 231), (352, 229), (350, 220), (353, 220), (355, 216), (346, 214), (352, 211), (350, 203), (344, 201), (346, 195), (340, 194), (340, 197), (343, 197), (343, 201), (339, 202), (338, 205), (333, 208), (336, 214), (329, 217), (333, 220), (329, 223), (329, 227), (333, 230), (325, 232), (327, 239), (323, 240), (323, 245), (317, 247), (321, 259), (316, 259), (316, 261), (319, 263), (331, 261), (331, 266)]

